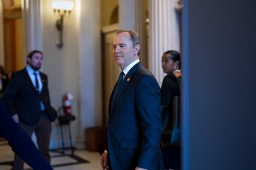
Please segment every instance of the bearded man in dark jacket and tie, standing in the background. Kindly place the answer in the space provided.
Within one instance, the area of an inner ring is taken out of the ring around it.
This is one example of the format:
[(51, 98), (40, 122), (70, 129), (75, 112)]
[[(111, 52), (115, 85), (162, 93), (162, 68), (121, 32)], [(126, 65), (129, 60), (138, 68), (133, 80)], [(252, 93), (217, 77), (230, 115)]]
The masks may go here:
[[(57, 116), (51, 107), (48, 79), (41, 68), (43, 53), (32, 51), (27, 57), (27, 67), (12, 74), (11, 81), (4, 92), (3, 101), (16, 123), (32, 136), (35, 132), (40, 152), (50, 162), (49, 140), (51, 121)], [(23, 161), (14, 157), (14, 169), (22, 169)]]

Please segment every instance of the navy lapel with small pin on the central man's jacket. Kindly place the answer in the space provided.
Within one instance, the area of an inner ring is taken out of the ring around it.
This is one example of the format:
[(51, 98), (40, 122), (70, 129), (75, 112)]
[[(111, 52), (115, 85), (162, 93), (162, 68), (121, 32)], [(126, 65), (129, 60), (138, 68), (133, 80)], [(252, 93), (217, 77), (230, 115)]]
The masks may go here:
[[(121, 97), (121, 95), (123, 94), (125, 89), (127, 88), (128, 84), (132, 81), (133, 75), (134, 75), (134, 73), (136, 73), (139, 66), (140, 66), (140, 63), (137, 63), (136, 65), (134, 65), (134, 67), (132, 67), (129, 70), (127, 75), (122, 80), (121, 84), (119, 84), (117, 91), (116, 91), (116, 85), (117, 85), (117, 83), (116, 83), (114, 90), (111, 94), (111, 98), (109, 100), (109, 108), (110, 108), (109, 109), (109, 119), (111, 119), (111, 116), (113, 115), (114, 108), (116, 107), (117, 102), (119, 101), (119, 98)], [(116, 92), (114, 92), (114, 91), (116, 91)]]

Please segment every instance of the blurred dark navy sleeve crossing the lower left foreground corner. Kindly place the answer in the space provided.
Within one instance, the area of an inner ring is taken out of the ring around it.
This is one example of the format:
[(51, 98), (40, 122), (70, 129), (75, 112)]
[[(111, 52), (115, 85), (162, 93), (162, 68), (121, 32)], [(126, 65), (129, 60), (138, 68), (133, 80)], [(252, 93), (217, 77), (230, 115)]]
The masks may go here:
[(8, 140), (12, 150), (33, 169), (53, 169), (30, 137), (11, 118), (0, 101), (0, 136)]

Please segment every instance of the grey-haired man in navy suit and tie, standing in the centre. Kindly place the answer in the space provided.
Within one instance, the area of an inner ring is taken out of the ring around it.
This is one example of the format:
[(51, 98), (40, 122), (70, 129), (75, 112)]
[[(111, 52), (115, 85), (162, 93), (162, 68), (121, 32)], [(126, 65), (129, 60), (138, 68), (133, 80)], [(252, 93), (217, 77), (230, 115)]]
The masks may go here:
[(163, 169), (160, 87), (139, 62), (139, 34), (118, 30), (113, 57), (121, 68), (109, 100), (103, 169)]

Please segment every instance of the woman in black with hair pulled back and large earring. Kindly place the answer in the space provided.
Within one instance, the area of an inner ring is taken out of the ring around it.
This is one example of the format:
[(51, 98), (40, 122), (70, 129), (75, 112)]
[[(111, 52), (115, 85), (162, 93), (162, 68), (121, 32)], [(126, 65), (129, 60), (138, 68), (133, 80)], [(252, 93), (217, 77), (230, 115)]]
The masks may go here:
[(179, 128), (181, 55), (177, 51), (166, 51), (161, 62), (163, 72), (167, 74), (161, 86), (161, 148), (164, 169), (181, 169), (181, 131)]

